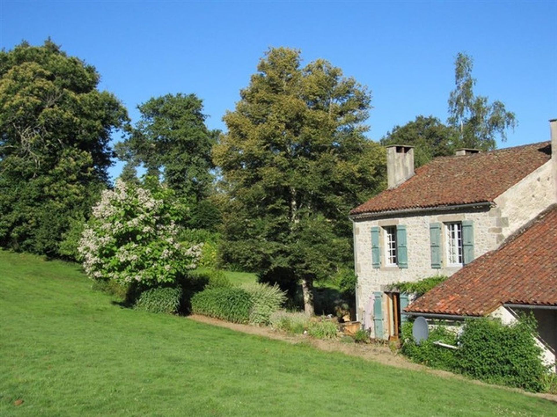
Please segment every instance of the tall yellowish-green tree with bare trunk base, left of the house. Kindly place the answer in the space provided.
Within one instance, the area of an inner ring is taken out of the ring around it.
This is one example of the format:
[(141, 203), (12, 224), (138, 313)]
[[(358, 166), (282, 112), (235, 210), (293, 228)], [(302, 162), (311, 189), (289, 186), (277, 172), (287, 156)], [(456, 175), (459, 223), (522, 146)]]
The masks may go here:
[(325, 60), (271, 48), (214, 147), (231, 198), (223, 256), (266, 281), (312, 286), (350, 262), (349, 209), (384, 183), (384, 150), (364, 137), (371, 96)]

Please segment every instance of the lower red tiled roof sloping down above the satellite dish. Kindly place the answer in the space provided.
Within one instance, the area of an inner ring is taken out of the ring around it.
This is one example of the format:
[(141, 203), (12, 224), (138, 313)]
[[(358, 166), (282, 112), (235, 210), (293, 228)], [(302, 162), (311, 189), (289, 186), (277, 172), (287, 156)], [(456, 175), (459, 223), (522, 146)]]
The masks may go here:
[(406, 311), (485, 316), (503, 303), (557, 305), (557, 204), (499, 249), (463, 267)]

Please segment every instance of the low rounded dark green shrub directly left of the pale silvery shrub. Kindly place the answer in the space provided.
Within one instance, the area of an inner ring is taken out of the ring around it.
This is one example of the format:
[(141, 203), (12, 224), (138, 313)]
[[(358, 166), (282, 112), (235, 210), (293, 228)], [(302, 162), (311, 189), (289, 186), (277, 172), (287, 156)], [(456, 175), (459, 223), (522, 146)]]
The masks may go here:
[(247, 323), (253, 301), (242, 288), (209, 288), (192, 297), (192, 312), (233, 323)]

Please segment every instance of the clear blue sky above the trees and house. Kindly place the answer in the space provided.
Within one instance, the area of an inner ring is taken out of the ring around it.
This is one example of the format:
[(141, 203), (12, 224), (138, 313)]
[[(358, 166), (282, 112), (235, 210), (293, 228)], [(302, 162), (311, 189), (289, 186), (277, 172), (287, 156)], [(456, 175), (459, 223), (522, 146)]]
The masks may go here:
[[(23, 2), (0, 0), (0, 47), (48, 36), (95, 65), (100, 89), (128, 107), (191, 92), (209, 127), (226, 130), (270, 46), (325, 58), (373, 92), (379, 140), (417, 115), (447, 118), (457, 52), (471, 55), (475, 92), (501, 100), (519, 126), (499, 147), (549, 139), (557, 117), (557, 2)], [(118, 138), (115, 138), (118, 139)], [(118, 175), (121, 164), (112, 170)]]

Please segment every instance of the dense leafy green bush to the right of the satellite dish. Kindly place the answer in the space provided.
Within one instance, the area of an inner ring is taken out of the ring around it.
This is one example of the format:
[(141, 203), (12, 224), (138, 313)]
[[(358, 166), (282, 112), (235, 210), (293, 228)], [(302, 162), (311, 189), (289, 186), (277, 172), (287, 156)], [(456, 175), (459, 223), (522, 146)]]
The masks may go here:
[(540, 391), (546, 370), (541, 348), (532, 337), (535, 334), (533, 315), (510, 326), (499, 320), (471, 320), (460, 338), (458, 367), (474, 378)]

